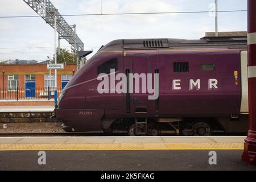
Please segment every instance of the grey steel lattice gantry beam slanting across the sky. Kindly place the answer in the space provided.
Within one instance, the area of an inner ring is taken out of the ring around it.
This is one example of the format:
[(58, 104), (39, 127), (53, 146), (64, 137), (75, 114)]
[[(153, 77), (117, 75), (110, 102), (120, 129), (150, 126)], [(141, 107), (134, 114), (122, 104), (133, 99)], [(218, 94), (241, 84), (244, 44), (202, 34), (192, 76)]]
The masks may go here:
[(41, 16), (46, 23), (52, 28), (54, 26), (54, 18), (57, 18), (57, 32), (60, 38), (67, 40), (77, 51), (84, 50), (84, 43), (75, 34), (72, 27), (66, 22), (63, 16), (60, 15), (59, 11), (52, 5), (49, 0), (23, 0), (30, 6), (39, 16)]

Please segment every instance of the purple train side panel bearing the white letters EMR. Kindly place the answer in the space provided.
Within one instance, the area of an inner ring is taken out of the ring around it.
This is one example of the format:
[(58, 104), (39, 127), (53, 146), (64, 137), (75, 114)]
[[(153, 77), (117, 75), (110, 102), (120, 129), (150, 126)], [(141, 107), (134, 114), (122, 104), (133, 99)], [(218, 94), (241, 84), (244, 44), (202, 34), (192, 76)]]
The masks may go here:
[[(188, 62), (189, 71), (174, 72), (174, 62)], [(202, 64), (214, 64), (215, 68), (202, 71)], [(239, 113), (240, 77), (237, 85), (235, 81), (235, 74), (240, 74), (239, 52), (163, 53), (159, 55), (158, 66), (160, 115), (218, 117)], [(200, 84), (191, 89), (191, 80)], [(217, 81), (216, 88), (209, 88), (213, 80)]]

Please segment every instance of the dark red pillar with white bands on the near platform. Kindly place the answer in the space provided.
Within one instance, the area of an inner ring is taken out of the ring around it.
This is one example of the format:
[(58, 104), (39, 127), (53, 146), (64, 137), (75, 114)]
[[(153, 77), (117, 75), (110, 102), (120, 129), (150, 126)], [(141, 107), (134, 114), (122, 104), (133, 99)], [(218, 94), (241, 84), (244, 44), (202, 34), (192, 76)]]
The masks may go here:
[(256, 1), (247, 0), (247, 6), (249, 130), (242, 159), (256, 165)]

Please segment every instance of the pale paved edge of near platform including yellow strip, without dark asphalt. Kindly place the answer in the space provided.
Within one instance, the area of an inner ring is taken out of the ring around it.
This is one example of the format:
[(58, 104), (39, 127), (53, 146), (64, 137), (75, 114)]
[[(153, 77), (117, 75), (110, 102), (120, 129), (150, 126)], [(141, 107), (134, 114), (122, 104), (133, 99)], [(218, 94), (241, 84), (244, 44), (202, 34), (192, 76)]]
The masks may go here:
[(246, 137), (11, 137), (0, 151), (19, 150), (243, 150)]

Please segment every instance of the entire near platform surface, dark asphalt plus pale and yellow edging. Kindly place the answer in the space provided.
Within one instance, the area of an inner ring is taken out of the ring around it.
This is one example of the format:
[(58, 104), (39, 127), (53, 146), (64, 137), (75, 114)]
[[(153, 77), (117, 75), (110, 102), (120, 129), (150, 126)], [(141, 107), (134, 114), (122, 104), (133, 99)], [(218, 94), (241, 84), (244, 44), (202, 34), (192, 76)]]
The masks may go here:
[[(245, 137), (2, 137), (0, 170), (253, 170)], [(39, 151), (46, 165), (39, 165)], [(209, 164), (215, 151), (217, 164)]]

